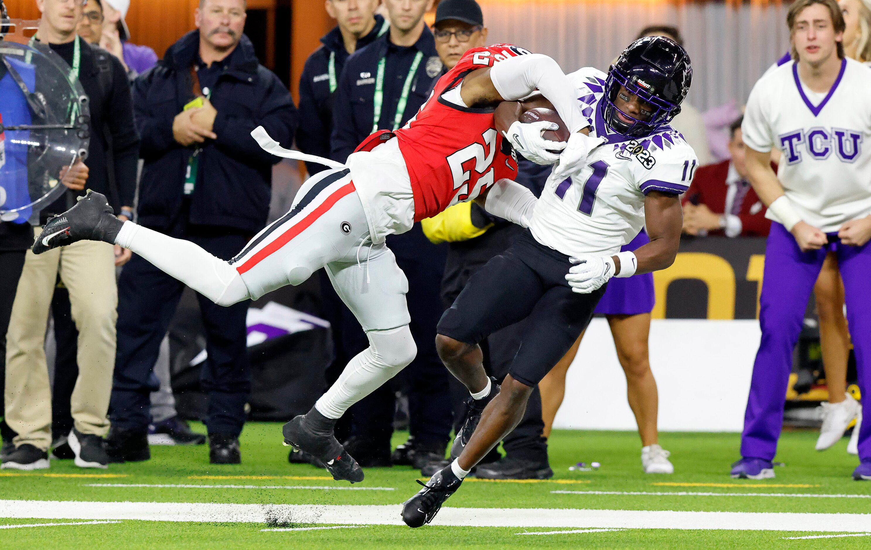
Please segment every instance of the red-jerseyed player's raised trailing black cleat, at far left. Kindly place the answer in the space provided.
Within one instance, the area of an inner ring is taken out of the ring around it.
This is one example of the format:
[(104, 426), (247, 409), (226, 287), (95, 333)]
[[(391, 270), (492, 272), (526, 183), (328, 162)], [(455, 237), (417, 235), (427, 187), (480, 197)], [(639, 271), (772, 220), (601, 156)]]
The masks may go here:
[(78, 203), (60, 216), (51, 218), (33, 244), (33, 253), (42, 254), (58, 246), (66, 246), (80, 240), (105, 241), (115, 244), (118, 231), (124, 225), (115, 218), (105, 195), (88, 191)]

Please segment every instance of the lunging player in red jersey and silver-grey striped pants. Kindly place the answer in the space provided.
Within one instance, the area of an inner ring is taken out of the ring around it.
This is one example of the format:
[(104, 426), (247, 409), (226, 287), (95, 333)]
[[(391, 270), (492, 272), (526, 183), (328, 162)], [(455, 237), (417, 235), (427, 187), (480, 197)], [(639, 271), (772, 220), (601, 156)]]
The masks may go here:
[[(550, 100), (571, 137), (556, 144), (542, 138), (542, 124), (548, 123), (513, 124), (510, 142), (527, 158), (558, 158), (556, 170), (571, 172), (600, 143), (581, 132), (590, 123), (581, 113), (575, 87), (550, 57), (499, 44), (469, 50), (438, 81), (414, 119), (395, 132), (368, 137), (345, 165), (314, 158), (333, 170), (309, 178), (291, 211), (229, 262), (188, 241), (122, 223), (98, 193), (52, 219), (33, 252), (81, 239), (104, 240), (131, 249), (219, 305), (299, 285), (326, 268), (336, 292), (366, 331), (369, 347), (351, 359), (311, 411), (283, 427), (283, 434), (287, 445), (320, 459), (334, 479), (361, 481), (361, 467), (334, 438), (335, 420), (395, 376), (416, 353), (408, 330), (408, 281), (384, 239), (449, 205), (482, 200), (485, 194), (487, 211), (525, 225), (534, 198), (506, 179), (516, 174), (517, 164), (503, 143), (505, 137), (496, 131), (493, 111), (502, 101), (534, 91)], [(262, 128), (252, 135), (278, 156), (313, 159), (282, 149)], [(561, 148), (558, 157), (547, 152)]]

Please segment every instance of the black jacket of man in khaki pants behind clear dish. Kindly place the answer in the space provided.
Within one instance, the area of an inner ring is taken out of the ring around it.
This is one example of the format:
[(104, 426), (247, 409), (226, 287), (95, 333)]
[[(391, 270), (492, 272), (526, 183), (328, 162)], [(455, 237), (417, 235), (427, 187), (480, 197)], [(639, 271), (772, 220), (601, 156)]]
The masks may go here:
[[(136, 194), (139, 135), (133, 121), (130, 83), (118, 58), (84, 40), (79, 42), (82, 58), (78, 79), (88, 96), (91, 111), (91, 144), (84, 161), (90, 172), (85, 189), (103, 193), (118, 212), (121, 206), (132, 206)], [(61, 53), (65, 45), (60, 48), (53, 45), (52, 49), (65, 58)], [(109, 72), (111, 77), (101, 79), (101, 70)], [(76, 194), (67, 191), (64, 197), (46, 207), (40, 212), (42, 220), (69, 209), (75, 204), (72, 198)], [(84, 195), (84, 191), (78, 194)]]

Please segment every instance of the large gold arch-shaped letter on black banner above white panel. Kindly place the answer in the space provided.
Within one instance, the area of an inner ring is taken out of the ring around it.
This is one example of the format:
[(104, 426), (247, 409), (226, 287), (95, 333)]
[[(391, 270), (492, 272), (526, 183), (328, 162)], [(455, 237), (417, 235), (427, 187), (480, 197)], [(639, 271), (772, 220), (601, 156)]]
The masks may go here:
[(707, 252), (679, 252), (671, 267), (653, 272), (653, 319), (665, 319), (668, 286), (681, 278), (695, 278), (707, 285), (708, 319), (735, 319), (735, 270), (724, 258)]

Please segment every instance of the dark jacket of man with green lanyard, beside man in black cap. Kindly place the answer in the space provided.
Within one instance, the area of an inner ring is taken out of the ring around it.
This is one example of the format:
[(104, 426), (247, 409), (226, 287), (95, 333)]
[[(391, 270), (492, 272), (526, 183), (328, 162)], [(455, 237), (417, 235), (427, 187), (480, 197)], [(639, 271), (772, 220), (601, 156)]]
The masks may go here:
[(442, 76), (442, 61), (436, 52), (436, 40), (428, 27), (423, 27), (421, 37), (410, 48), (398, 48), (390, 44), (389, 38), (390, 33), (385, 34), (365, 48), (354, 51), (345, 62), (333, 106), (333, 120), (336, 124), (330, 139), (330, 158), (334, 160), (345, 162), (357, 145), (372, 133), (372, 121), (375, 118), (375, 78), (381, 57), (386, 57), (387, 60), (379, 130), (393, 129), (396, 104), (417, 51), (423, 53), (423, 58), (411, 84), (402, 124), (414, 117), (421, 105), (426, 103), (436, 80)]

